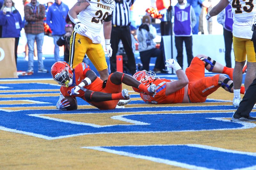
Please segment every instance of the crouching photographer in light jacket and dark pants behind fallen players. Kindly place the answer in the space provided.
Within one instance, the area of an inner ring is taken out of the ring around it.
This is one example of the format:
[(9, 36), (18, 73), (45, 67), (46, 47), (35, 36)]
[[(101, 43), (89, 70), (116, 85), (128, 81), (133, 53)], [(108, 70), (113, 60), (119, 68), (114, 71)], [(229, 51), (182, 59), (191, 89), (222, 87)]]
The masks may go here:
[(140, 60), (143, 70), (148, 71), (150, 58), (157, 57), (154, 70), (156, 73), (161, 72), (161, 70), (165, 68), (162, 55), (163, 52), (156, 48), (156, 43), (153, 41), (153, 39), (156, 38), (156, 28), (151, 25), (150, 17), (148, 15), (143, 16), (142, 24), (136, 32), (139, 41)]

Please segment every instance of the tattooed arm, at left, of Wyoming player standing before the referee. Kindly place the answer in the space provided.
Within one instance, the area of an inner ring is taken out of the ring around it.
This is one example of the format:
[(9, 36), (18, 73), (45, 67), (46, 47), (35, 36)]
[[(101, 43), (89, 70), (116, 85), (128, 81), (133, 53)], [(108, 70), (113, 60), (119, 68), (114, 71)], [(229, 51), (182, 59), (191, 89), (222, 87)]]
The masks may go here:
[(77, 18), (77, 14), (86, 9), (89, 5), (90, 4), (87, 2), (87, 0), (77, 1), (76, 4), (68, 11), (68, 16), (71, 19), (71, 21), (74, 23), (73, 20)]

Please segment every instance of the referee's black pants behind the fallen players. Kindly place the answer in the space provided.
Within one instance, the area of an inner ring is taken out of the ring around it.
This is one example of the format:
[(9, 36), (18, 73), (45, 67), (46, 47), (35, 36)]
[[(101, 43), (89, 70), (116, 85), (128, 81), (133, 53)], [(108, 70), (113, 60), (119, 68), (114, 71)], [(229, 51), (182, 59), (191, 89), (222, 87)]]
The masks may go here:
[(131, 38), (129, 26), (125, 26), (125, 27), (112, 26), (110, 43), (111, 43), (111, 48), (113, 49), (113, 53), (112, 53), (112, 57), (110, 57), (109, 59), (111, 73), (116, 71), (116, 53), (118, 50), (118, 44), (120, 40), (123, 43), (125, 53), (128, 57), (128, 69), (130, 73), (133, 75), (136, 72), (136, 63), (135, 63), (135, 58), (132, 51), (132, 38)]

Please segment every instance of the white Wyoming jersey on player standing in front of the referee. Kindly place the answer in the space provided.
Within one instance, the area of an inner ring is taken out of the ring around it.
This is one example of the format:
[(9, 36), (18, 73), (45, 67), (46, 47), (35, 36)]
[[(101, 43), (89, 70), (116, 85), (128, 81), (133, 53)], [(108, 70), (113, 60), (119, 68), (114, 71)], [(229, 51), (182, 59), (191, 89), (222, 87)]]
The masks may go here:
[(111, 15), (116, 3), (113, 1), (111, 4), (106, 4), (102, 0), (87, 0), (87, 2), (90, 5), (81, 11), (77, 15), (77, 18), (88, 28), (88, 31), (80, 33), (76, 27), (74, 28), (74, 31), (80, 35), (89, 37), (93, 43), (100, 44), (100, 30), (103, 22), (108, 15)]

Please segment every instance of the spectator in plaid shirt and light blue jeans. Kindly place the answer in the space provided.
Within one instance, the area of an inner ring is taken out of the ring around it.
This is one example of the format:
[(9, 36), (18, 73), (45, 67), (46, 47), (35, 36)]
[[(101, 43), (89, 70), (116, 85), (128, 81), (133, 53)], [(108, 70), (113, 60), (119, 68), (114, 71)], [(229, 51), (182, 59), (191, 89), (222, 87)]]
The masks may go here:
[(39, 4), (37, 0), (24, 6), (24, 15), (26, 19), (25, 33), (28, 39), (28, 72), (34, 72), (34, 43), (36, 40), (38, 73), (47, 73), (44, 69), (42, 46), (44, 42), (44, 15), (45, 7)]

